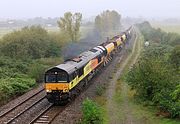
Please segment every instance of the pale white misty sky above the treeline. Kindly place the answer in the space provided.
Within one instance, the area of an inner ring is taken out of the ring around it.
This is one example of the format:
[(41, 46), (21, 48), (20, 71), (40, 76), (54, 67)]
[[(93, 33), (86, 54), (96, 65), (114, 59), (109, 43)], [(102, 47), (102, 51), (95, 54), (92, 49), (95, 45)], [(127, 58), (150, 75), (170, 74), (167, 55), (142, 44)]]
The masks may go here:
[(0, 18), (59, 17), (66, 11), (91, 17), (107, 9), (123, 17), (180, 18), (180, 0), (0, 0)]

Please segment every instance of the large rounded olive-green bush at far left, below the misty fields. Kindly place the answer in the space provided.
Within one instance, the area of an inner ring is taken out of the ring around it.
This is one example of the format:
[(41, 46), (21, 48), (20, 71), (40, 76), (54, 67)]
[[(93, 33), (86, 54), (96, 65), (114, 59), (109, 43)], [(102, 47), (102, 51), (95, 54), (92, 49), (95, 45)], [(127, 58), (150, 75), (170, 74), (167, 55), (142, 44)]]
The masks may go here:
[(18, 59), (60, 56), (60, 46), (40, 26), (24, 27), (2, 38), (1, 53)]

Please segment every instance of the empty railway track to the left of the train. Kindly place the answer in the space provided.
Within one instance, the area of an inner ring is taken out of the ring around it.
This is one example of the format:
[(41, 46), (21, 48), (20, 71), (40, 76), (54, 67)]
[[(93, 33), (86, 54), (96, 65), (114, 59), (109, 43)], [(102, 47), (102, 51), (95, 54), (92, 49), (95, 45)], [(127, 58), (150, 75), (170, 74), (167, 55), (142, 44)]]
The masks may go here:
[(35, 94), (24, 99), (16, 106), (0, 114), (0, 124), (10, 124), (18, 121), (18, 118), (29, 111), (31, 108), (41, 103), (45, 99), (44, 89), (40, 89)]

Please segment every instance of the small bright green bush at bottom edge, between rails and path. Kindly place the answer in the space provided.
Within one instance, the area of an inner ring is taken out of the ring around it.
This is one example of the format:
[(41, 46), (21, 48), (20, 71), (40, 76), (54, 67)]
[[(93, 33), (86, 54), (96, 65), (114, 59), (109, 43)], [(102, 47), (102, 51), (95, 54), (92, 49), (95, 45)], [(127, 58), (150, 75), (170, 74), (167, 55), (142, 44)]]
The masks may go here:
[(83, 124), (102, 124), (103, 117), (101, 108), (97, 106), (92, 100), (86, 99), (83, 102)]

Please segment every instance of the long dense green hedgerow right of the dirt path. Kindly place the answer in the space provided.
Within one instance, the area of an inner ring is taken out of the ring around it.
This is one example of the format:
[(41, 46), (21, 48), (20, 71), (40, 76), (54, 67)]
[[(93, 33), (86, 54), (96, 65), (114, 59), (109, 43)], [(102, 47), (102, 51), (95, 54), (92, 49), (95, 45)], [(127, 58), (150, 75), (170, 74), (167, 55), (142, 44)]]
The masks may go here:
[[(154, 29), (147, 22), (140, 24), (139, 29), (150, 46), (144, 48), (138, 62), (129, 70), (126, 81), (136, 91), (137, 99), (157, 106), (172, 118), (180, 117), (180, 51), (177, 37)], [(171, 40), (166, 41), (164, 37)]]

